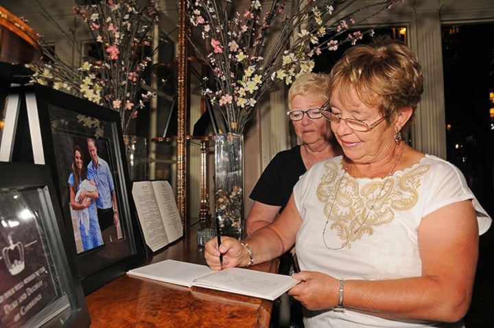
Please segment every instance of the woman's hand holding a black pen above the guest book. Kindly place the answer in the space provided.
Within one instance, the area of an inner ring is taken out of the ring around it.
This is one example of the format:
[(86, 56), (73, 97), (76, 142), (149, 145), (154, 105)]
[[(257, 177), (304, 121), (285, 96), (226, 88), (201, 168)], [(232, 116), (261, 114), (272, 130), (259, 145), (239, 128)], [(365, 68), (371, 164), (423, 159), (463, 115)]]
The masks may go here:
[[(209, 240), (204, 246), (204, 258), (212, 270), (222, 270), (235, 266), (246, 266), (250, 257), (248, 252), (240, 242), (232, 237), (221, 237), (221, 246), (218, 250), (217, 237)], [(223, 265), (220, 263), (220, 254), (223, 257)]]

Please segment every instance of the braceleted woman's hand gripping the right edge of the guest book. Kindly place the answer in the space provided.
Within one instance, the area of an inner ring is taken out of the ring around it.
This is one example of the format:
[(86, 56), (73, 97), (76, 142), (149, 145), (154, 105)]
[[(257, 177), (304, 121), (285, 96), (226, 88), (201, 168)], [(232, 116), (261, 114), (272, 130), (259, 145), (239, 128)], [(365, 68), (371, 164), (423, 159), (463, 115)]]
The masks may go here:
[(331, 309), (338, 305), (340, 281), (315, 271), (301, 271), (292, 274), (301, 283), (288, 291), (309, 310)]

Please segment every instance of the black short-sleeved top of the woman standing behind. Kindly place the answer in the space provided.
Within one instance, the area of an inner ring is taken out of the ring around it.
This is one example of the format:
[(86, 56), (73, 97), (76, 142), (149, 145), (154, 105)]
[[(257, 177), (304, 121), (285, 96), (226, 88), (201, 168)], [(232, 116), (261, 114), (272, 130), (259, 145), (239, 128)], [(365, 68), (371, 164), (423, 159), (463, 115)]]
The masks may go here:
[(301, 146), (283, 150), (274, 155), (266, 169), (257, 180), (250, 193), (250, 199), (263, 204), (285, 208), (298, 178), (307, 172), (302, 160)]

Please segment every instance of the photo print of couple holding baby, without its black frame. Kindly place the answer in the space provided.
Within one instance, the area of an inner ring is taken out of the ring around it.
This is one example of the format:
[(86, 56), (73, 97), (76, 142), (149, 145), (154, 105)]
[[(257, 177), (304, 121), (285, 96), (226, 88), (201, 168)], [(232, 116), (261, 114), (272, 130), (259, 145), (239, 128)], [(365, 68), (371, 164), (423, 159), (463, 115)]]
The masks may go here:
[(60, 137), (65, 139), (62, 143), (71, 145), (63, 151), (63, 164), (58, 165), (64, 166), (61, 172), (70, 172), (66, 178), (60, 177), (60, 184), (67, 185), (69, 197), (62, 199), (62, 204), (69, 203), (77, 253), (120, 239), (113, 170), (99, 156), (107, 153), (104, 140)]

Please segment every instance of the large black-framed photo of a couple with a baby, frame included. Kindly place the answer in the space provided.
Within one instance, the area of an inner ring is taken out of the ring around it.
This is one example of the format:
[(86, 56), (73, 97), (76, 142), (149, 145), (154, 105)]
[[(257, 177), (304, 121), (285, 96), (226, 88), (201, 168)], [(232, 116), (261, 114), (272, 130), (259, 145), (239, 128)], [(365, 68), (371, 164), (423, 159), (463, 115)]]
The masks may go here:
[(44, 86), (26, 89), (34, 163), (47, 164), (86, 294), (145, 255), (132, 220), (119, 114)]

